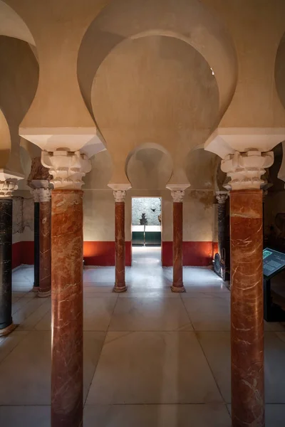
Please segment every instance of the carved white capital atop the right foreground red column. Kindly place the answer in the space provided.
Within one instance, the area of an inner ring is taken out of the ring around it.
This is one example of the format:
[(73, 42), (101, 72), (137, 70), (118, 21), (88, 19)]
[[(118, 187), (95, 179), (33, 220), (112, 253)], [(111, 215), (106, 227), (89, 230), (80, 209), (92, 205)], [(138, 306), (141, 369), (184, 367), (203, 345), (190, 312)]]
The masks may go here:
[(261, 176), (265, 174), (265, 168), (271, 167), (273, 162), (273, 152), (261, 153), (257, 150), (235, 152), (222, 160), (221, 169), (231, 179), (230, 189), (260, 189), (264, 184)]

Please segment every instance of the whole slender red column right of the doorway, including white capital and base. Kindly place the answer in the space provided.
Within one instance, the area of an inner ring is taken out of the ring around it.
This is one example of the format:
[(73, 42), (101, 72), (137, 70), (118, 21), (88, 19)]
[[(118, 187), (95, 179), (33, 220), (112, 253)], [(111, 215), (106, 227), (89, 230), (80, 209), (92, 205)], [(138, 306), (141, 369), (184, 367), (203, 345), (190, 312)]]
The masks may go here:
[(172, 292), (185, 292), (183, 285), (183, 198), (189, 186), (167, 186), (173, 201), (173, 282)]

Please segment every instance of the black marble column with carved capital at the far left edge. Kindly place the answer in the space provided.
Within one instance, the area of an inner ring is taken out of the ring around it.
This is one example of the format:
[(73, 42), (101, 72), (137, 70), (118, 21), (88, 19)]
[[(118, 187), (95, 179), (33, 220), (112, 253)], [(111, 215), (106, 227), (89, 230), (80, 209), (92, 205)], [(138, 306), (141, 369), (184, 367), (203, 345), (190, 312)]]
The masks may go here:
[(13, 182), (0, 181), (0, 337), (12, 332), (12, 191)]

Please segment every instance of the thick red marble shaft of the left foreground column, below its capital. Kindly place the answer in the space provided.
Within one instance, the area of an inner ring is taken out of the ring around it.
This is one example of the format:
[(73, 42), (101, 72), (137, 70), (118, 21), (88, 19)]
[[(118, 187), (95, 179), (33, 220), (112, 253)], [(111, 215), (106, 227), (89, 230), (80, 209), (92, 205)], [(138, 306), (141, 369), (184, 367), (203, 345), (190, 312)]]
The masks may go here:
[(83, 191), (51, 195), (51, 427), (83, 426)]

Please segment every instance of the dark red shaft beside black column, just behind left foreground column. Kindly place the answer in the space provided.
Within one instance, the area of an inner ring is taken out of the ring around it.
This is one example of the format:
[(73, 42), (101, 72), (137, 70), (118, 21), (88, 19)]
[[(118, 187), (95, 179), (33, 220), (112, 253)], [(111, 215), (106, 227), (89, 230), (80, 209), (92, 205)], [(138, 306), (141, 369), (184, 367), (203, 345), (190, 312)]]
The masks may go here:
[(39, 297), (51, 295), (51, 201), (40, 202)]

